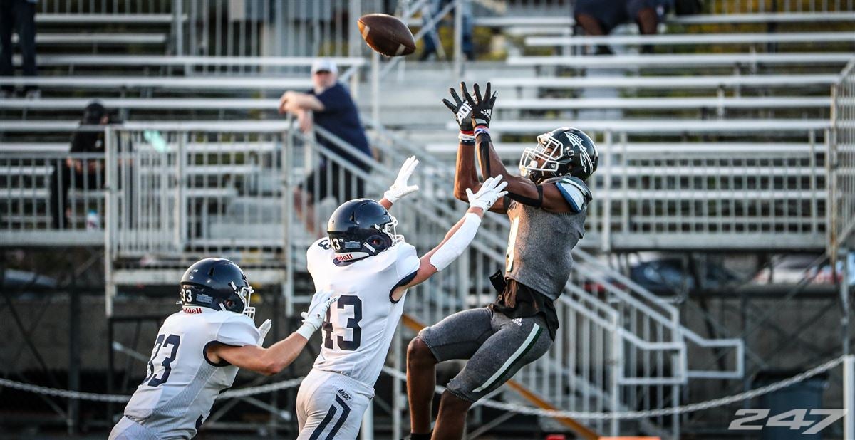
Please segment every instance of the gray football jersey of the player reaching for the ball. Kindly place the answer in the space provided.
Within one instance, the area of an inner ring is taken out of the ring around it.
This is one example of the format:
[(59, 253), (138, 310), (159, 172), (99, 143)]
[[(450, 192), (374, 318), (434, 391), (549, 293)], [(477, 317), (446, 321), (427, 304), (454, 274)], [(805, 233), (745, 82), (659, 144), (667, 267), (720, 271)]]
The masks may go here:
[(573, 268), (570, 250), (585, 235), (586, 208), (591, 192), (581, 179), (558, 177), (546, 179), (542, 185), (549, 184), (558, 187), (572, 212), (554, 214), (510, 202), (504, 276), (555, 301), (561, 296)]

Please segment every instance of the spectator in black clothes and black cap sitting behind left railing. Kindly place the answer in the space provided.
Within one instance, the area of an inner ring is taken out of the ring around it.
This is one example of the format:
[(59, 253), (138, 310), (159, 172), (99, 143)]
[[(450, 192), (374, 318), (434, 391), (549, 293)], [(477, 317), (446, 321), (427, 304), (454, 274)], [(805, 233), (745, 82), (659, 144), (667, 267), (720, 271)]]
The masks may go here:
[[(117, 122), (98, 101), (92, 101), (83, 112), (80, 126), (98, 126)], [(74, 133), (70, 153), (104, 154), (104, 132), (83, 131)], [(104, 183), (103, 159), (66, 158), (65, 163), (56, 163), (50, 179), (50, 214), (54, 229), (71, 226), (71, 207), (68, 206), (68, 189), (97, 190)]]

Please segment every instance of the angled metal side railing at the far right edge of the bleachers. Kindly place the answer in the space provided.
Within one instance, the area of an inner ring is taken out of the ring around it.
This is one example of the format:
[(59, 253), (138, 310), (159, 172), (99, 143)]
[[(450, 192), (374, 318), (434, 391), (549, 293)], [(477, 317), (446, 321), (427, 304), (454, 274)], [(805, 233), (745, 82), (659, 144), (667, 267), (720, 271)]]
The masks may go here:
[(831, 88), (828, 143), (828, 255), (855, 247), (855, 59)]

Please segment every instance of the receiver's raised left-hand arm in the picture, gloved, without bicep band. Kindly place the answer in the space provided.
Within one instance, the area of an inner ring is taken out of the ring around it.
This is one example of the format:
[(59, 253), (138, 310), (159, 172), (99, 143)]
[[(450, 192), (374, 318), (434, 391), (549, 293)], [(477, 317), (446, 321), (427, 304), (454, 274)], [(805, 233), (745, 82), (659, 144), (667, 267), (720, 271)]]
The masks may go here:
[[(460, 89), (466, 94), (466, 84), (460, 83)], [(445, 107), (451, 110), (454, 114), (454, 120), (460, 126), (460, 134), (457, 135), (459, 143), (457, 144), (457, 166), (454, 173), (454, 197), (462, 202), (469, 202), (466, 195), (466, 190), (478, 191), (481, 189), (481, 182), (478, 181), (478, 174), (475, 171), (475, 159), (473, 158), (475, 151), (475, 132), (472, 127), (472, 108), (469, 103), (466, 103), (457, 95), (454, 87), (449, 89), (451, 98), (454, 103), (448, 99), (443, 99)], [(503, 199), (499, 199), (490, 207), (493, 212), (504, 214), (507, 212), (506, 204)]]

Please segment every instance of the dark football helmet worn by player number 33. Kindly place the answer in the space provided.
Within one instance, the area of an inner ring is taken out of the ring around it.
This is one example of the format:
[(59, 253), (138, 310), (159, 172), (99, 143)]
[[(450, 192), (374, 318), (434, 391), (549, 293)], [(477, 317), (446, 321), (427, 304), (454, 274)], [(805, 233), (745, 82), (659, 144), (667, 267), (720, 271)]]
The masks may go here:
[(253, 290), (244, 271), (225, 258), (196, 261), (181, 277), (180, 286), (180, 304), (256, 317), (256, 308), (250, 307)]

